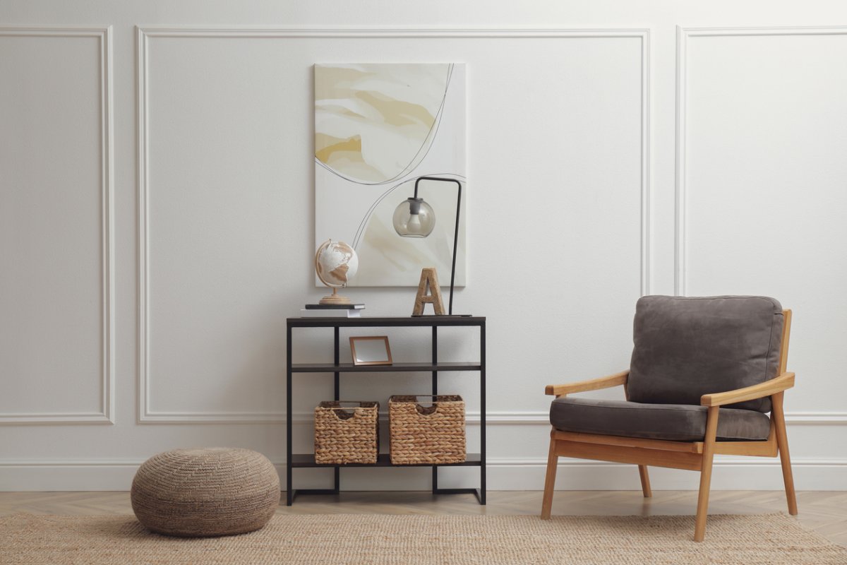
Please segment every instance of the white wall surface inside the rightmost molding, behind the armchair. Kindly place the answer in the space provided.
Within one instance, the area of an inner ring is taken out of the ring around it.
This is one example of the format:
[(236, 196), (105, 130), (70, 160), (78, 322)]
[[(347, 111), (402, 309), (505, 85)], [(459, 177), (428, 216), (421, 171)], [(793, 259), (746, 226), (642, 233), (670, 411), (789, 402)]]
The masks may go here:
[(847, 30), (729, 33), (687, 39), (684, 292), (793, 308), (786, 409), (843, 413)]

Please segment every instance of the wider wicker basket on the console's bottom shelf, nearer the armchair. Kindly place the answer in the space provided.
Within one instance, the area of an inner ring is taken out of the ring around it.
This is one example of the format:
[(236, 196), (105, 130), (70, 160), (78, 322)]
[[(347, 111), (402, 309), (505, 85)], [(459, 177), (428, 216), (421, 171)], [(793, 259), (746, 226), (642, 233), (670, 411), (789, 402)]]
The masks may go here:
[[(431, 406), (418, 403), (422, 398), (431, 400)], [(462, 396), (391, 396), (388, 419), (391, 463), (465, 461), (465, 402)]]

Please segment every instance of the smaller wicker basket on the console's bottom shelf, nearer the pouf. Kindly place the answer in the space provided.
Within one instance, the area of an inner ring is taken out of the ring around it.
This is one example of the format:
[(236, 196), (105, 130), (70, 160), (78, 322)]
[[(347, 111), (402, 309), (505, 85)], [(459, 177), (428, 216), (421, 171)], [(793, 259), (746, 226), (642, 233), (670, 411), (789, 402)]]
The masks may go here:
[(376, 463), (379, 402), (329, 401), (315, 408), (315, 463)]

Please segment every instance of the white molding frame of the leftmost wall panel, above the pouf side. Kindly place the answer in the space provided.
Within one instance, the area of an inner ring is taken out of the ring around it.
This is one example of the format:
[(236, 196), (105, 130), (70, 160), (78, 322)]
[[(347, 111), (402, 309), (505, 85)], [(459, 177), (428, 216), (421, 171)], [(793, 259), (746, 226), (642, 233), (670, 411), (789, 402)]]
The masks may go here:
[(114, 424), (114, 136), (112, 26), (2, 26), (0, 36), (93, 37), (99, 42), (101, 217), (101, 411), (97, 413), (0, 413), (0, 424)]

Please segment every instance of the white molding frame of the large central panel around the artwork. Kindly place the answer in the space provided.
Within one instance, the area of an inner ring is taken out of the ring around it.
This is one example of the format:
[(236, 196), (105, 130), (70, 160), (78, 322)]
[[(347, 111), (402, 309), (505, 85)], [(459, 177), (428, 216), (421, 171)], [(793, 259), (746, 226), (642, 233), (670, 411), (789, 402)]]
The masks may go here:
[(285, 413), (155, 412), (151, 408), (150, 374), (150, 207), (149, 207), (149, 91), (150, 39), (155, 37), (310, 39), (310, 38), (468, 38), (468, 39), (585, 39), (636, 38), (641, 64), (640, 158), (640, 274), (639, 293), (650, 294), (650, 30), (649, 29), (489, 29), (489, 28), (268, 28), (258, 26), (136, 26), (137, 71), (137, 185), (138, 185), (138, 424), (279, 424)]

